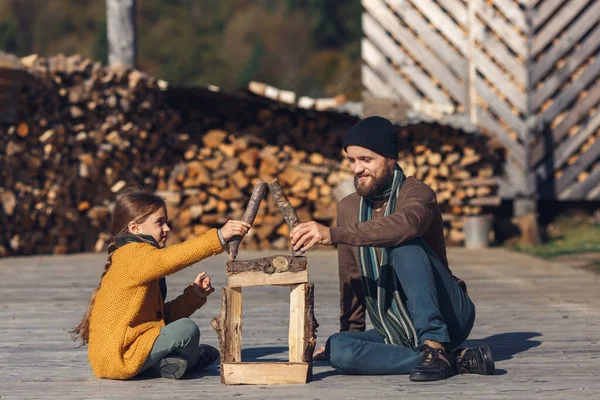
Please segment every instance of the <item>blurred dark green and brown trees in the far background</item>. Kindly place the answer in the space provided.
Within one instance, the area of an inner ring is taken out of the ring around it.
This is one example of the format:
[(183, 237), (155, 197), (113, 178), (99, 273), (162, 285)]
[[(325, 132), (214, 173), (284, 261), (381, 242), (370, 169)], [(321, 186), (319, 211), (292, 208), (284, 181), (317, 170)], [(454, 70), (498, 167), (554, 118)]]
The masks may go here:
[[(137, 2), (138, 68), (176, 85), (250, 80), (360, 97), (360, 0)], [(107, 60), (104, 0), (0, 2), (0, 46)]]

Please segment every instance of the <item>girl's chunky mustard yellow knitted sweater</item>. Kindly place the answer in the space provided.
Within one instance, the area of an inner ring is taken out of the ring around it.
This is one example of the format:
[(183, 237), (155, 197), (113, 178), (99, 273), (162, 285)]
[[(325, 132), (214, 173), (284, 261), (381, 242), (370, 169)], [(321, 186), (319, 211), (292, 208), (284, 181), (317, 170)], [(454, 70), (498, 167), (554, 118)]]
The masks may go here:
[(189, 317), (206, 303), (190, 285), (181, 296), (163, 304), (159, 278), (222, 251), (216, 229), (165, 249), (146, 243), (117, 249), (90, 316), (88, 358), (94, 375), (111, 379), (135, 376), (160, 328)]

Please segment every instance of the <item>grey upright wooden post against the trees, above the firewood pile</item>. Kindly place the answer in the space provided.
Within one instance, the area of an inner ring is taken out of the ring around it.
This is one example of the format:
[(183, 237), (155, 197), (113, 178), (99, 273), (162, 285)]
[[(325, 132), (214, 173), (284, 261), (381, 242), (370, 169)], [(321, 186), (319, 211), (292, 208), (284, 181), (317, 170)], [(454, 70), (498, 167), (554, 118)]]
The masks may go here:
[(106, 0), (108, 64), (136, 67), (136, 0)]

